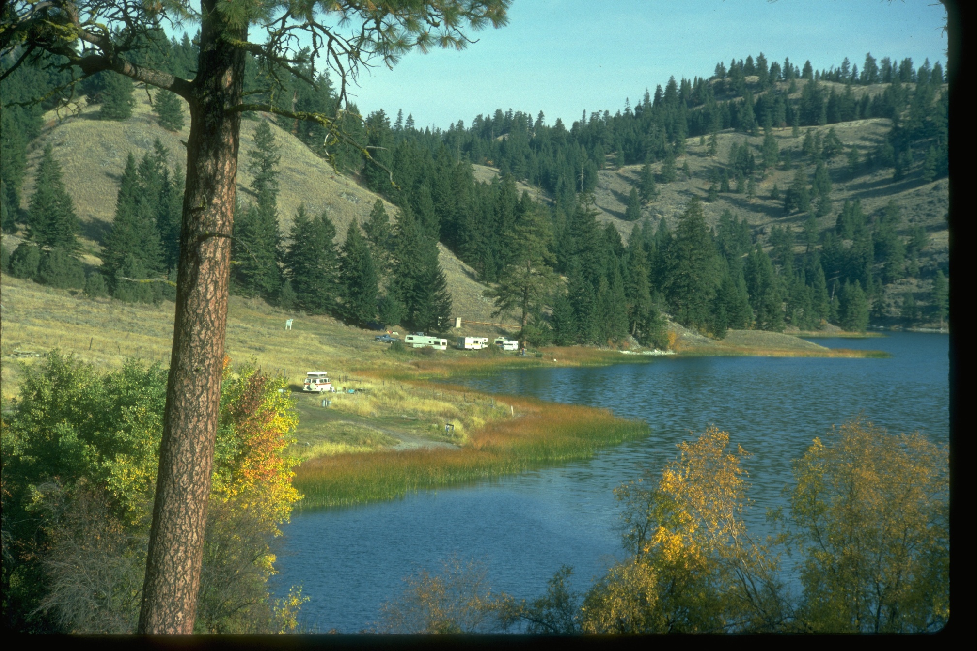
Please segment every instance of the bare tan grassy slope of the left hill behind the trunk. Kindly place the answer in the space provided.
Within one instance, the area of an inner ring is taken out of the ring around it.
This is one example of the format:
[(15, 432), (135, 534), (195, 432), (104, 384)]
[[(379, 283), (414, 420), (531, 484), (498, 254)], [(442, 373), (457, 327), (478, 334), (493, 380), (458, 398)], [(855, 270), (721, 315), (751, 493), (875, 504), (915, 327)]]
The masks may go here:
[[(51, 142), (64, 171), (65, 186), (81, 220), (81, 243), (87, 264), (101, 264), (98, 242), (103, 240), (110, 227), (115, 195), (130, 151), (138, 160), (152, 150), (152, 142), (158, 138), (170, 151), (171, 165), (186, 167), (186, 148), (182, 141), (186, 141), (190, 135), (189, 119), (181, 133), (168, 132), (156, 124), (146, 94), (137, 93), (136, 99), (132, 117), (124, 122), (98, 119), (97, 106), (83, 106), (75, 115), (63, 115), (64, 119), (59, 119), (54, 112), (48, 113), (43, 134), (31, 143), (23, 200), (26, 202), (33, 192), (34, 167), (44, 145)], [(252, 146), (258, 124), (256, 119), (241, 122), (237, 195), (242, 202), (254, 199), (249, 189), (252, 178), (247, 171), (245, 152)], [(327, 211), (336, 224), (337, 239), (345, 238), (349, 224), (354, 220), (364, 222), (380, 197), (361, 187), (355, 179), (336, 174), (307, 146), (275, 124), (271, 127), (281, 147), (278, 214), (282, 234), (288, 233), (295, 211), (304, 202), (312, 214)], [(388, 201), (384, 201), (384, 205), (391, 219), (395, 220), (396, 207)], [(16, 235), (4, 236), (4, 245), (9, 251), (13, 251), (19, 243), (20, 238)], [(475, 271), (461, 263), (445, 247), (440, 247), (440, 253), (456, 316), (469, 321), (517, 322), (514, 317), (507, 318), (505, 315), (492, 318), (491, 303), (482, 296), (485, 286), (475, 280)]]

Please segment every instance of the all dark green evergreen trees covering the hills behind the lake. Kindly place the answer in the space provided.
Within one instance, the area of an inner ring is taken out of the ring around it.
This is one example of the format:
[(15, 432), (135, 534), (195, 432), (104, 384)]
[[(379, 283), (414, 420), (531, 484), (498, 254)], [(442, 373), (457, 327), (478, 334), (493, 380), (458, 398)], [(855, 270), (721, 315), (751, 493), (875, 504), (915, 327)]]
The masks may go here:
[[(160, 38), (150, 45), (145, 50), (147, 57), (156, 57), (154, 62), (163, 61), (175, 73), (192, 76), (188, 66), (195, 61), (195, 51), (189, 38), (185, 36), (182, 42)], [(762, 67), (760, 62), (758, 58), (753, 64), (753, 74)], [(249, 65), (250, 87), (269, 88), (262, 70), (253, 61)], [(21, 67), (33, 69), (29, 65)], [(775, 63), (768, 70), (779, 67)], [(584, 113), (570, 131), (559, 120), (553, 127), (547, 127), (541, 113), (531, 122), (528, 115), (498, 110), (492, 118), (479, 116), (469, 130), (459, 122), (447, 132), (432, 133), (430, 129), (418, 130), (410, 115), (404, 120), (403, 113), (399, 113), (392, 125), (382, 110), (376, 111), (367, 117), (362, 136), (365, 142), (377, 147), (373, 149), (374, 155), (393, 172), (396, 186), (390, 183), (385, 170), (364, 166), (355, 149), (325, 152), (324, 135), (317, 131), (319, 127), (294, 124), (276, 116), (280, 126), (318, 148), (319, 153), (331, 153), (339, 164), (350, 169), (362, 166), (366, 183), (385, 193), (399, 207), (399, 220), (396, 226), (391, 226), (383, 204), (378, 203), (369, 221), (362, 226), (366, 237), (359, 226), (352, 227), (342, 249), (336, 249), (332, 244), (335, 228), (328, 217), (312, 217), (303, 209), (296, 215), (288, 237), (283, 238), (276, 211), (276, 145), (267, 124), (263, 123), (256, 132), (255, 147), (248, 153), (255, 178), (251, 189), (256, 201), (239, 207), (235, 218), (234, 289), (241, 294), (269, 298), (282, 306), (328, 313), (362, 324), (373, 320), (387, 323), (403, 320), (413, 327), (434, 329), (439, 322), (446, 322), (450, 312), (444, 272), (437, 264), (437, 241), (441, 240), (461, 260), (472, 264), (483, 281), (497, 283), (500, 293), (494, 295), (496, 304), (519, 307), (525, 334), (540, 342), (606, 343), (630, 334), (644, 343), (658, 345), (663, 341), (664, 332), (661, 310), (671, 312), (680, 322), (717, 336), (722, 336), (727, 327), (778, 329), (786, 323), (816, 327), (823, 320), (837, 320), (840, 314), (847, 313), (841, 305), (850, 302), (849, 295), (855, 295), (855, 284), (861, 288), (867, 305), (880, 314), (881, 280), (890, 282), (902, 277), (900, 274), (918, 274), (919, 241), (925, 233), (913, 233), (906, 245), (896, 234), (900, 228), (898, 220), (880, 219), (872, 228), (859, 227), (853, 224), (858, 224), (860, 219), (865, 222), (864, 216), (853, 218), (854, 213), (847, 205), (838, 217), (838, 223), (845, 224), (839, 226), (840, 230), (836, 228), (823, 237), (813, 232), (816, 225), (812, 225), (811, 218), (823, 217), (831, 210), (829, 164), (844, 151), (833, 130), (824, 139), (820, 133), (807, 132), (802, 151), (808, 156), (807, 163), (815, 166), (814, 181), (808, 185), (801, 164), (794, 183), (784, 193), (787, 213), (811, 213), (804, 232), (803, 244), (808, 249), (805, 259), (791, 260), (790, 264), (782, 260), (774, 264), (772, 273), (766, 271), (762, 247), (759, 253), (741, 251), (742, 260), (726, 254), (716, 255), (708, 253), (709, 247), (701, 242), (697, 244), (695, 237), (688, 233), (679, 238), (676, 232), (672, 237), (663, 228), (664, 224), (659, 224), (654, 234), (648, 224), (639, 224), (625, 248), (612, 226), (604, 229), (597, 226), (591, 214), (592, 206), (587, 203), (597, 170), (606, 164), (608, 153), (616, 152), (617, 162), (621, 164), (631, 162), (638, 155), (626, 154), (627, 147), (623, 146), (625, 141), (633, 141), (622, 135), (630, 124), (634, 128), (632, 136), (656, 134), (658, 144), (646, 147), (644, 160), (663, 160), (658, 175), (652, 173), (650, 163), (646, 162), (639, 183), (631, 191), (628, 215), (632, 220), (640, 219), (641, 205), (655, 200), (658, 183), (671, 183), (677, 178), (675, 156), (682, 152), (686, 136), (699, 128), (694, 126), (696, 119), (710, 110), (710, 149), (714, 147), (718, 128), (726, 128), (727, 124), (735, 122), (749, 132), (755, 131), (756, 125), (762, 122), (766, 132), (762, 147), (754, 150), (745, 142), (735, 145), (728, 163), (713, 169), (710, 197), (716, 191), (755, 192), (757, 173), (762, 175), (763, 170), (776, 164), (787, 168), (793, 165), (792, 156), (779, 151), (770, 131), (775, 120), (783, 125), (788, 118), (795, 125), (797, 135), (796, 125), (801, 119), (805, 123), (824, 124), (828, 115), (841, 121), (887, 112), (894, 121), (893, 131), (874, 156), (870, 155), (870, 162), (875, 158), (882, 164), (891, 163), (896, 167), (897, 176), (901, 166), (905, 174), (913, 160), (912, 143), (928, 139), (933, 144), (924, 161), (924, 178), (932, 179), (946, 172), (947, 94), (936, 98), (942, 82), (939, 66), (929, 69), (924, 64), (921, 74), (913, 73), (916, 89), (912, 99), (906, 87), (901, 86), (903, 75), (892, 76), (890, 71), (890, 86), (871, 102), (868, 94), (859, 102), (854, 101), (852, 85), (856, 81), (850, 72), (845, 93), (836, 95), (832, 90), (825, 97), (818, 82), (822, 77), (831, 79), (830, 75), (817, 72), (807, 75), (807, 67), (798, 71), (788, 67), (786, 61), (781, 72), (767, 77), (771, 84), (781, 79), (789, 82), (798, 77), (807, 78), (810, 83), (805, 84), (796, 106), (787, 101), (784, 92), (773, 88), (763, 92), (767, 87), (762, 84), (756, 89), (760, 94), (755, 101), (750, 88), (744, 86), (745, 95), (739, 103), (715, 102), (710, 90), (713, 84), (708, 80), (697, 78), (695, 83), (683, 80), (679, 85), (671, 79), (664, 91), (657, 89), (654, 101), (646, 94), (644, 102), (633, 110), (626, 106), (623, 114), (618, 111), (614, 117), (605, 111), (593, 113), (587, 120)], [(716, 77), (739, 78), (733, 69), (731, 65), (731, 72), (720, 74), (722, 70), (717, 66)], [(743, 70), (748, 69), (743, 64)], [(743, 76), (749, 74), (743, 72)], [(8, 88), (10, 79), (18, 78), (12, 75), (5, 80), (4, 88)], [(267, 99), (287, 102), (288, 108), (297, 110), (334, 110), (335, 98), (328, 79), (323, 76), (319, 82), (317, 90), (298, 78), (276, 79), (272, 90), (266, 90)], [(97, 83), (88, 83), (90, 99), (99, 101)], [(907, 102), (908, 109), (894, 108)], [(723, 108), (717, 108), (720, 106)], [(724, 110), (733, 111), (729, 120)], [(351, 124), (359, 125), (354, 117), (350, 116)], [(650, 141), (646, 138), (645, 142)], [(116, 225), (104, 243), (104, 272), (86, 281), (93, 295), (104, 291), (124, 300), (158, 301), (172, 291), (162, 282), (134, 282), (168, 277), (179, 255), (178, 197), (182, 194), (182, 179), (179, 170), (170, 171), (166, 166), (165, 150), (161, 152), (161, 148), (157, 142), (154, 154), (148, 154), (139, 164), (134, 159), (127, 163), (117, 199)], [(653, 150), (654, 153), (648, 153)], [(634, 151), (637, 150), (632, 146)], [(473, 152), (482, 162), (498, 164), (503, 169), (501, 177), (491, 183), (475, 182), (469, 164)], [(531, 160), (533, 156), (535, 162)], [(547, 159), (553, 167), (546, 168), (549, 172), (543, 174), (539, 163)], [(847, 162), (848, 172), (857, 174), (862, 161), (854, 147), (848, 151)], [(540, 206), (525, 192), (520, 196), (517, 179), (538, 183), (552, 191), (553, 205)], [(735, 182), (736, 190), (731, 182)], [(776, 186), (774, 192), (779, 193)], [(701, 208), (693, 213), (697, 211), (701, 213)], [(687, 221), (683, 216), (680, 224)], [(34, 224), (37, 220), (31, 218), (29, 222)], [(697, 229), (698, 226), (690, 232), (698, 232)], [(871, 241), (872, 234), (876, 241)], [(771, 233), (771, 237), (776, 236)], [(852, 239), (853, 245), (850, 248), (841, 245), (844, 239)], [(14, 258), (19, 261), (17, 268), (21, 275), (41, 279), (41, 258), (51, 258), (48, 252), (58, 247), (42, 244), (36, 237), (32, 241), (37, 248), (37, 271), (30, 270), (29, 261), (21, 261), (30, 258), (27, 250)], [(713, 249), (718, 246), (717, 241), (713, 242)], [(409, 242), (414, 243), (416, 251), (408, 250)], [(632, 247), (639, 242), (641, 252)], [(812, 250), (819, 245), (820, 251)], [(668, 249), (669, 246), (677, 248)], [(70, 247), (59, 250), (69, 251)], [(701, 260), (696, 256), (702, 256)], [(867, 257), (871, 263), (865, 263)], [(55, 260), (64, 258), (64, 253), (55, 256)], [(71, 255), (67, 259), (75, 260)], [(680, 260), (699, 260), (698, 275), (692, 277), (682, 271), (685, 267), (679, 264)], [(881, 265), (881, 271), (874, 277), (872, 264)], [(50, 267), (51, 262), (47, 265)], [(519, 276), (523, 267), (526, 271)], [(825, 281), (828, 306), (834, 305), (833, 311), (825, 312), (819, 303), (821, 294), (816, 286), (819, 267), (820, 273), (828, 274)], [(554, 289), (560, 285), (553, 281), (555, 273), (568, 278), (566, 295)], [(60, 275), (74, 278), (71, 282), (75, 285), (79, 282), (77, 273)], [(51, 276), (49, 271), (44, 277)], [(768, 282), (768, 276), (779, 280)], [(809, 289), (801, 290), (801, 287)], [(817, 301), (800, 298), (809, 291), (818, 294)], [(523, 293), (523, 300), (516, 301), (512, 296), (519, 292)], [(778, 292), (781, 304), (776, 304)], [(717, 298), (720, 295), (724, 297), (721, 300)], [(762, 296), (768, 297), (767, 304), (779, 307), (761, 308)], [(748, 315), (743, 307), (746, 304), (751, 310)]]

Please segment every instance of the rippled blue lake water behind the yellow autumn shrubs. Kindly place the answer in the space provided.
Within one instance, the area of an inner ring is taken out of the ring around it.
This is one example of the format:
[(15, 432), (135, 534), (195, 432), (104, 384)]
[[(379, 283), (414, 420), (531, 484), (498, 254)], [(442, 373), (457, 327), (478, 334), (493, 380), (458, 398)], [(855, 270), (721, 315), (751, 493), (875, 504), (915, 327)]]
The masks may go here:
[[(296, 513), (283, 527), (273, 590), (303, 586), (301, 621), (314, 631), (357, 632), (403, 578), (438, 571), (452, 555), (488, 568), (493, 590), (531, 599), (561, 565), (574, 590), (623, 557), (613, 489), (643, 468), (660, 469), (675, 444), (706, 426), (730, 432), (752, 456), (747, 515), (765, 536), (766, 509), (785, 507), (790, 462), (815, 436), (859, 413), (890, 432), (921, 431), (949, 441), (949, 338), (890, 333), (879, 339), (816, 339), (836, 348), (880, 349), (892, 357), (657, 357), (600, 368), (503, 371), (452, 384), (502, 394), (612, 409), (644, 419), (651, 434), (556, 468), (408, 495), (403, 500)], [(785, 573), (790, 574), (786, 559)]]

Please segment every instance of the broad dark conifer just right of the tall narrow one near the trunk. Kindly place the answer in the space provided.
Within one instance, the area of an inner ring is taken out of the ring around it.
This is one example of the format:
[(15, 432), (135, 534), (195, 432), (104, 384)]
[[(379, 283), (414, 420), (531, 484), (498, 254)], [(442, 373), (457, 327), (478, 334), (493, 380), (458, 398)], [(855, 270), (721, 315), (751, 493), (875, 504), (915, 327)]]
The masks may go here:
[(335, 313), (336, 227), (325, 212), (310, 219), (300, 204), (283, 262), (297, 303), (314, 314)]

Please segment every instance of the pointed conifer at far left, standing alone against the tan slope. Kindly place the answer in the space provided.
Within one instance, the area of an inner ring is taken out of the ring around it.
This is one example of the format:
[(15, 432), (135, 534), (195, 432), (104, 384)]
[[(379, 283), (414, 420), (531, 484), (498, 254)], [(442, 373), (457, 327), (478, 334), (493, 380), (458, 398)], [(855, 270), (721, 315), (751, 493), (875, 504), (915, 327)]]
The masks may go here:
[(77, 229), (78, 218), (64, 188), (61, 165), (48, 142), (37, 165), (34, 193), (27, 207), (27, 239), (42, 249), (73, 253), (78, 248)]

